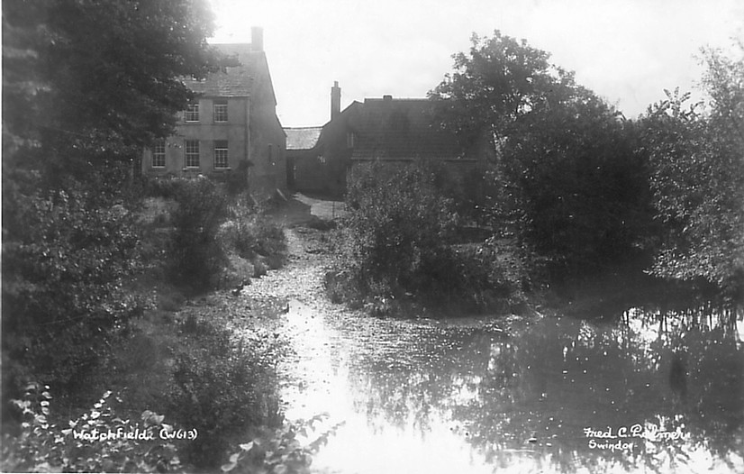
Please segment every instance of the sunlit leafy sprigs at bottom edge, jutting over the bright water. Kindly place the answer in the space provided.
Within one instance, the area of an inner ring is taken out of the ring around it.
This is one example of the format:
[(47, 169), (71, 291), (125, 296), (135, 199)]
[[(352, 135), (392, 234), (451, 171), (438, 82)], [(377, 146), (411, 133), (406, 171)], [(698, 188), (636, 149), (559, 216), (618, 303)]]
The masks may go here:
[(222, 472), (250, 472), (266, 474), (301, 474), (309, 472), (313, 454), (317, 453), (340, 424), (331, 426), (317, 434), (315, 439), (303, 444), (297, 435), (309, 438), (315, 424), (322, 424), (327, 415), (315, 415), (309, 420), (285, 423), (265, 442), (258, 439), (240, 444), (240, 451), (230, 456), (222, 465)]

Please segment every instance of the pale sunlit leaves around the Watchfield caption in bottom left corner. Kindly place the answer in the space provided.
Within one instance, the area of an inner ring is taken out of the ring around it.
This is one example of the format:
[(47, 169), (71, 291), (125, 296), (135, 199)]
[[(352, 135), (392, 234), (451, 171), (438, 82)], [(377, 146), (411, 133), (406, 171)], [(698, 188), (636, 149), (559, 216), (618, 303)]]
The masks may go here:
[[(111, 392), (107, 391), (87, 413), (63, 427), (49, 421), (50, 400), (49, 386), (39, 384), (29, 385), (23, 399), (13, 400), (25, 421), (21, 434), (14, 439), (6, 438), (3, 443), (2, 469), (5, 472), (182, 469), (174, 443), (161, 438), (161, 431), (171, 434), (175, 431), (172, 425), (163, 423), (163, 416), (145, 411), (141, 415), (141, 425), (123, 420), (116, 415)], [(141, 441), (125, 436), (136, 433), (147, 433), (149, 439)]]

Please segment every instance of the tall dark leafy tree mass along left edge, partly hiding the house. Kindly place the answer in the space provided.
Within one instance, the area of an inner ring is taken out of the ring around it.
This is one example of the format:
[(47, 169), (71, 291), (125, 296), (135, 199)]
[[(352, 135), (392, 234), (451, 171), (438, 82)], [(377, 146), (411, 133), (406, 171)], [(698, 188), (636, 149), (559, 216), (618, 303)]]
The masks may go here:
[(132, 313), (130, 192), (213, 64), (202, 0), (3, 3), (4, 389), (65, 383)]

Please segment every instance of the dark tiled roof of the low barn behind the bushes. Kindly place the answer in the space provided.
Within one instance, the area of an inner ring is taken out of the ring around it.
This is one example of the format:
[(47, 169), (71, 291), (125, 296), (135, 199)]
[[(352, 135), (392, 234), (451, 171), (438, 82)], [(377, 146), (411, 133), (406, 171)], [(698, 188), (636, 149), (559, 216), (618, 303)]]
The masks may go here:
[(365, 99), (355, 120), (352, 160), (458, 159), (462, 147), (433, 123), (427, 99)]

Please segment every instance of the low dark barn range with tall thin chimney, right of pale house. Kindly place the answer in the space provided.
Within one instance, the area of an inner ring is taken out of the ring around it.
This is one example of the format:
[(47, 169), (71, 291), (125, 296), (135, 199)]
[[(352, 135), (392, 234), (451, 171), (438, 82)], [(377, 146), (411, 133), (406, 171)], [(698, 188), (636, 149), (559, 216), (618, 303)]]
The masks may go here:
[(340, 196), (349, 170), (364, 162), (400, 166), (437, 160), (462, 176), (485, 164), (489, 147), (464, 147), (434, 120), (425, 98), (367, 98), (340, 110), (340, 87), (331, 87), (331, 120), (322, 127), (286, 128), (287, 180), (290, 187)]

